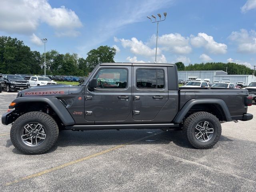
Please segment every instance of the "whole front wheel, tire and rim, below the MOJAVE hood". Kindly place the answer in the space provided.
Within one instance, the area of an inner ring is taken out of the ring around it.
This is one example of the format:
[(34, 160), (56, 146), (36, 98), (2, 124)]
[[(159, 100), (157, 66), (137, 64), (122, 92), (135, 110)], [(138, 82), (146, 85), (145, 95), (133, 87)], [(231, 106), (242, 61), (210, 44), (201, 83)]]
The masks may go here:
[(42, 154), (58, 139), (56, 121), (43, 112), (28, 112), (14, 121), (10, 131), (12, 144), (24, 154)]

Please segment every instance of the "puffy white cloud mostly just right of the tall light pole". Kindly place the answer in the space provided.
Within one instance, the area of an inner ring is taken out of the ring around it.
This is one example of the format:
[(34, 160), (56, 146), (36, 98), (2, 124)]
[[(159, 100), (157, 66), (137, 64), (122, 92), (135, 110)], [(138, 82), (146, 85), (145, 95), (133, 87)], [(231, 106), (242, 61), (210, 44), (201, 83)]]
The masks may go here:
[[(156, 42), (156, 35), (150, 38), (150, 44)], [(158, 37), (158, 45), (163, 46), (163, 50), (168, 50), (177, 54), (189, 54), (192, 48), (189, 45), (189, 38), (183, 37), (179, 33), (164, 34)]]

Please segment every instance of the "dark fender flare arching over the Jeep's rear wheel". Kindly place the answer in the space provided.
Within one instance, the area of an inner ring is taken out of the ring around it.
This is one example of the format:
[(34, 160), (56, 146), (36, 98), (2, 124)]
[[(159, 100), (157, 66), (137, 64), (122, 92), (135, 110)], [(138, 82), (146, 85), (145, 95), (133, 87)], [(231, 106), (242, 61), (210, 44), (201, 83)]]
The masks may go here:
[(181, 123), (185, 115), (192, 108), (192, 106), (196, 104), (218, 104), (224, 111), (227, 121), (232, 121), (232, 117), (228, 110), (228, 106), (222, 99), (192, 99), (186, 102), (186, 104), (182, 107), (178, 115), (174, 118), (174, 123)]

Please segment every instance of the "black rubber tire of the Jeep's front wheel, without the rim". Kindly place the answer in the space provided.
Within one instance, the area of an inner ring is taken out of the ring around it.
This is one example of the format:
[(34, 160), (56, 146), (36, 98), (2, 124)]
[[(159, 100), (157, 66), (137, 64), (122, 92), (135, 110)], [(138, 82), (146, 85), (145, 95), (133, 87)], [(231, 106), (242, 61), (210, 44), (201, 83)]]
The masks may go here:
[[(45, 130), (45, 141), (39, 146), (28, 146), (21, 139), (20, 132), (26, 124), (36, 122)], [(44, 112), (28, 112), (14, 121), (10, 130), (10, 138), (16, 149), (24, 154), (42, 154), (48, 151), (58, 139), (59, 129), (56, 121)]]

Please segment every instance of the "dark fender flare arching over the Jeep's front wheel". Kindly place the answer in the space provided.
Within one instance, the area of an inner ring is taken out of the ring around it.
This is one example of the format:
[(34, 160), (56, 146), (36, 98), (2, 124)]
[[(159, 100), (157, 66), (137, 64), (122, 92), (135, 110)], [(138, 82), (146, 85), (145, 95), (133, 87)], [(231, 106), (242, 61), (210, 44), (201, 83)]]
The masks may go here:
[[(31, 102), (44, 102), (47, 103), (53, 110), (56, 112), (60, 120), (63, 122), (65, 126), (74, 125), (75, 121), (66, 109), (66, 107), (53, 96), (28, 96), (28, 97), (18, 97), (13, 102), (15, 102), (15, 106), (21, 103), (31, 103)], [(15, 106), (9, 106), (9, 108), (15, 108)]]

